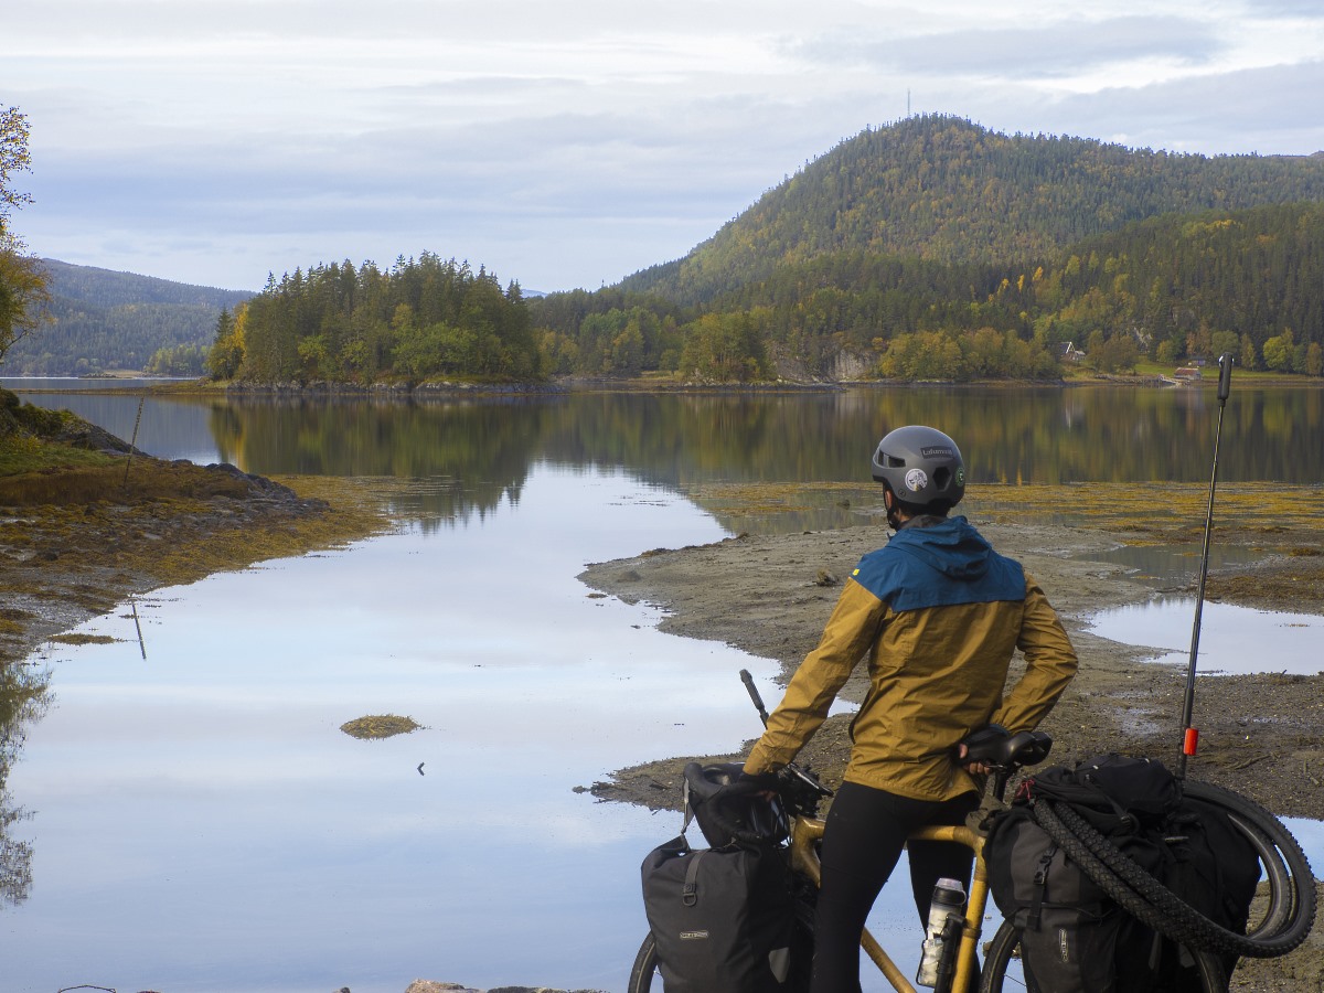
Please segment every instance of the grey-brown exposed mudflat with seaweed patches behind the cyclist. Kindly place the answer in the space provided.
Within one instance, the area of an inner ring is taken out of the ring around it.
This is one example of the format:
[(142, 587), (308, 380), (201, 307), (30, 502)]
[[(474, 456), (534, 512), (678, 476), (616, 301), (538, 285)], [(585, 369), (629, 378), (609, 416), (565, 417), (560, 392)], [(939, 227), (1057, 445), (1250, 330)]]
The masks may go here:
[[(1160, 594), (1193, 594), (1192, 584), (1156, 589), (1127, 576), (1121, 565), (1091, 560), (1116, 547), (1104, 532), (1061, 524), (972, 523), (998, 551), (1021, 560), (1062, 616), (1080, 657), (1080, 671), (1043, 723), (1054, 736), (1054, 764), (1110, 751), (1152, 755), (1172, 764), (1180, 743), (1181, 699), (1186, 670), (1153, 665), (1157, 649), (1129, 646), (1090, 630), (1088, 618), (1104, 609), (1141, 604)], [(838, 581), (858, 559), (882, 544), (880, 527), (857, 526), (802, 535), (737, 536), (678, 551), (658, 549), (632, 559), (591, 565), (580, 575), (587, 585), (636, 604), (649, 602), (666, 614), (659, 630), (682, 637), (723, 641), (780, 663), (782, 685), (817, 643), (835, 600)], [(1270, 557), (1237, 575), (1210, 573), (1209, 601), (1262, 609), (1291, 608), (1324, 613), (1324, 604), (1301, 602), (1274, 575), (1294, 559)], [(1296, 587), (1296, 579), (1286, 579)], [(708, 591), (722, 589), (714, 602)], [(1245, 594), (1238, 593), (1242, 591)], [(1230, 593), (1230, 596), (1229, 596)], [(1324, 663), (1321, 663), (1324, 666)], [(859, 702), (867, 686), (862, 670), (842, 696)], [(1013, 678), (1018, 667), (1013, 666)], [(775, 703), (769, 700), (769, 706)], [(1324, 820), (1324, 674), (1197, 674), (1194, 722), (1201, 728), (1200, 753), (1190, 775), (1238, 789), (1279, 816)], [(830, 718), (806, 748), (805, 757), (829, 785), (839, 782), (849, 752), (849, 716)], [(752, 741), (745, 741), (741, 753)], [(678, 790), (657, 788), (690, 759), (665, 757), (622, 769), (613, 782), (598, 782), (601, 798), (675, 806)], [(727, 757), (727, 756), (723, 756)], [(1255, 769), (1247, 776), (1246, 769)], [(1249, 780), (1249, 781), (1247, 781)], [(678, 779), (675, 780), (678, 782)], [(1305, 785), (1308, 788), (1303, 789)]]

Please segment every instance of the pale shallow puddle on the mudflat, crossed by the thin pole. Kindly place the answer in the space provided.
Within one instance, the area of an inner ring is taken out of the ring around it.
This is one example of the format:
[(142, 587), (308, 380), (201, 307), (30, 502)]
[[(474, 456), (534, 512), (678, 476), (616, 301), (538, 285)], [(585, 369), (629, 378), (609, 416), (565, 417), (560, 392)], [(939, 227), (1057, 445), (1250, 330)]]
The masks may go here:
[[(1194, 618), (1194, 597), (1161, 597), (1103, 610), (1094, 616), (1090, 630), (1124, 645), (1153, 647), (1160, 653), (1153, 662), (1185, 666), (1190, 659)], [(1254, 610), (1206, 601), (1197, 671), (1202, 675), (1315, 675), (1324, 670), (1319, 651), (1321, 636), (1324, 617), (1317, 614)]]

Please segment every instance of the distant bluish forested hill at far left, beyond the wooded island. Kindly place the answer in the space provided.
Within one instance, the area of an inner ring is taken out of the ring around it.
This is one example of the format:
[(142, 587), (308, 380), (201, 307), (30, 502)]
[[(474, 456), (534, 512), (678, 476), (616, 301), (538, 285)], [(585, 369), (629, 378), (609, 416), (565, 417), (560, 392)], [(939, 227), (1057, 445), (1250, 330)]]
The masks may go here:
[(154, 359), (154, 371), (197, 375), (220, 312), (253, 297), (53, 258), (41, 263), (50, 278), (53, 322), (9, 350), (0, 365), (7, 376), (136, 371)]

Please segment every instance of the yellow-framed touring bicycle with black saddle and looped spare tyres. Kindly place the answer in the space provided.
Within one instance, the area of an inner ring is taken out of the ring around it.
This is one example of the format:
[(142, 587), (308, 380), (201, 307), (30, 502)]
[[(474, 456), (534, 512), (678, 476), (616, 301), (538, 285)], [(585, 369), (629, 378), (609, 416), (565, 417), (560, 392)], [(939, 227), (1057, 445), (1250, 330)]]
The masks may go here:
[[(747, 681), (751, 696), (760, 714), (761, 700)], [(989, 798), (1002, 805), (1006, 785), (1022, 768), (1042, 763), (1053, 740), (1042, 732), (1021, 732), (993, 739), (981, 751), (972, 748), (968, 759), (981, 761), (993, 773)], [(691, 764), (699, 769), (698, 764)], [(690, 771), (687, 769), (687, 777)], [(1300, 845), (1271, 813), (1258, 804), (1210, 784), (1185, 782), (1188, 794), (1223, 808), (1233, 824), (1250, 839), (1260, 862), (1262, 878), (1267, 882), (1268, 899), (1263, 918), (1249, 927), (1245, 935), (1219, 928), (1213, 922), (1186, 907), (1158, 880), (1144, 874), (1107, 839), (1090, 837), (1088, 825), (1080, 822), (1070, 808), (1043, 804), (1045, 829), (1076, 859), (1107, 892), (1129, 914), (1148, 927), (1176, 941), (1193, 963), (1194, 977), (1202, 990), (1226, 990), (1229, 977), (1218, 952), (1234, 952), (1258, 957), (1286, 955), (1305, 940), (1315, 918), (1313, 875)], [(810, 772), (788, 765), (777, 775), (777, 793), (789, 816), (789, 842), (784, 846), (796, 880), (794, 935), (792, 940), (792, 974), (786, 982), (789, 993), (808, 989), (809, 963), (813, 956), (814, 902), (820, 883), (818, 843), (825, 822), (818, 817), (818, 806), (831, 790), (822, 786)], [(1075, 822), (1071, 822), (1071, 821)], [(985, 818), (986, 822), (986, 818)], [(1071, 824), (1064, 824), (1071, 822)], [(982, 825), (981, 825), (982, 829)], [(739, 826), (730, 826), (731, 837), (740, 838)], [(970, 849), (974, 857), (970, 892), (964, 915), (952, 915), (944, 941), (944, 961), (939, 965), (935, 993), (967, 990), (978, 968), (978, 943), (982, 936), (984, 914), (988, 908), (989, 876), (984, 859), (982, 830), (968, 826), (924, 828), (911, 835), (911, 841), (956, 842)], [(898, 993), (916, 993), (915, 986), (887, 955), (879, 941), (867, 931), (861, 935), (861, 947), (887, 982)], [(1004, 993), (1006, 989), (1035, 990), (1033, 981), (1016, 976), (1012, 968), (1019, 957), (1019, 931), (1004, 920), (986, 945), (982, 968), (978, 969), (981, 993)], [(1009, 976), (1009, 969), (1012, 974)], [(661, 993), (657, 948), (649, 933), (630, 972), (628, 993)]]

